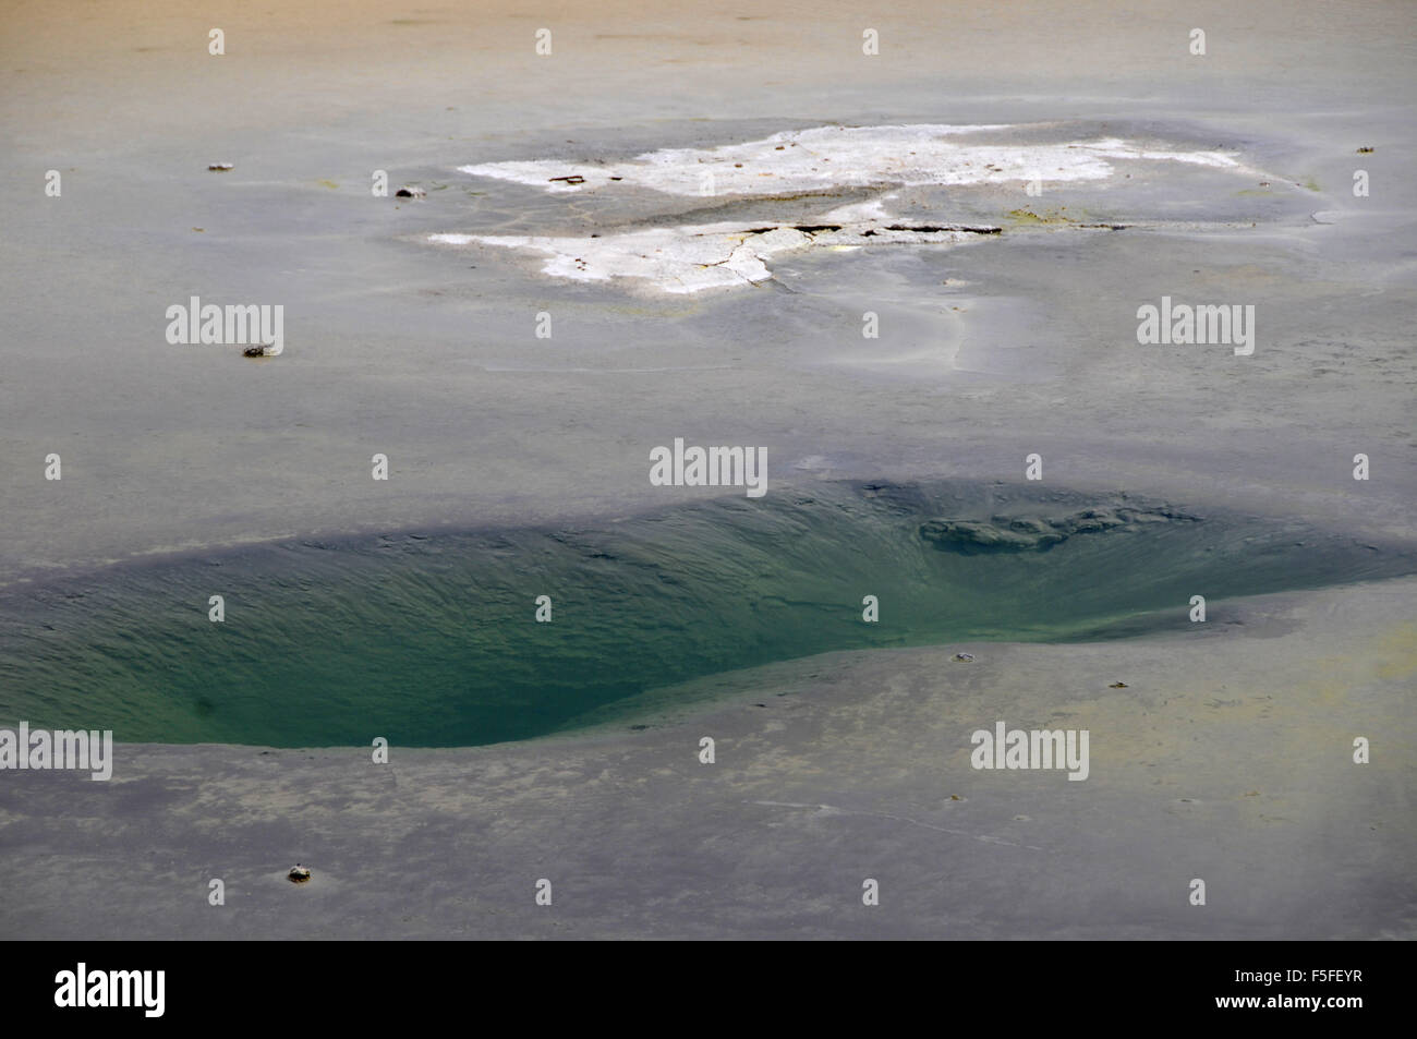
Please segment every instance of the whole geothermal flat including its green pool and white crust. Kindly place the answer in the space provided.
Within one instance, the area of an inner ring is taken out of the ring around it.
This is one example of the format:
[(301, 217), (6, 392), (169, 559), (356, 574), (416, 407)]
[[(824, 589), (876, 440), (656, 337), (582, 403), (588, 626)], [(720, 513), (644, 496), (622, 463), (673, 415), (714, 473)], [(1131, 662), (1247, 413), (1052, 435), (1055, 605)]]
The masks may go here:
[(1411, 16), (517, 14), (17, 13), (0, 934), (1411, 937)]

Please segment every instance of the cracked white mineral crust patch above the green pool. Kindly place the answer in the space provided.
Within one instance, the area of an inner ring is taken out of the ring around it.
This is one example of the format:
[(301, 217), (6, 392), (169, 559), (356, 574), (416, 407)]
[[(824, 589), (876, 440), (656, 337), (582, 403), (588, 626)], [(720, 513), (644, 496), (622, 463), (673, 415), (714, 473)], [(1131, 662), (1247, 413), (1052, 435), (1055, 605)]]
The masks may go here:
[(663, 194), (744, 201), (839, 190), (860, 193), (863, 189), (879, 194), (839, 206), (813, 218), (812, 224), (789, 224), (782, 217), (767, 221), (744, 217), (740, 223), (656, 224), (587, 237), (434, 234), (429, 241), (530, 252), (541, 257), (538, 269), (555, 278), (585, 282), (625, 278), (650, 291), (690, 293), (769, 281), (771, 261), (798, 249), (816, 247), (846, 252), (871, 245), (956, 245), (999, 232), (998, 227), (917, 225), (894, 217), (887, 203), (904, 189), (1097, 181), (1117, 174), (1115, 163), (1136, 162), (1250, 172), (1220, 152), (1144, 147), (1119, 137), (1032, 145), (978, 139), (1017, 130), (1010, 126), (820, 126), (708, 149), (660, 149), (604, 164), (534, 160), (462, 166), (463, 173), (473, 176), (563, 193), (629, 186)]

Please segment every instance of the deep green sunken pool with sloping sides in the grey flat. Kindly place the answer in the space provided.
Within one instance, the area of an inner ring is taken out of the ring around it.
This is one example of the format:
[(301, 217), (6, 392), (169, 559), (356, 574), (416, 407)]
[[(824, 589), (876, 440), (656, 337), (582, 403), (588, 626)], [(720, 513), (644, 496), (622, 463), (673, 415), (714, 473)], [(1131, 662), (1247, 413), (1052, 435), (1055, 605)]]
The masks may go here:
[[(1231, 597), (1410, 573), (1411, 549), (1297, 522), (1020, 488), (823, 485), (599, 527), (271, 544), (11, 590), (0, 723), (120, 741), (496, 743), (833, 649), (1186, 629), (1195, 594), (1213, 621)], [(222, 624), (207, 619), (214, 594)], [(877, 624), (862, 619), (867, 594)], [(553, 600), (550, 624), (534, 621), (537, 595)]]

